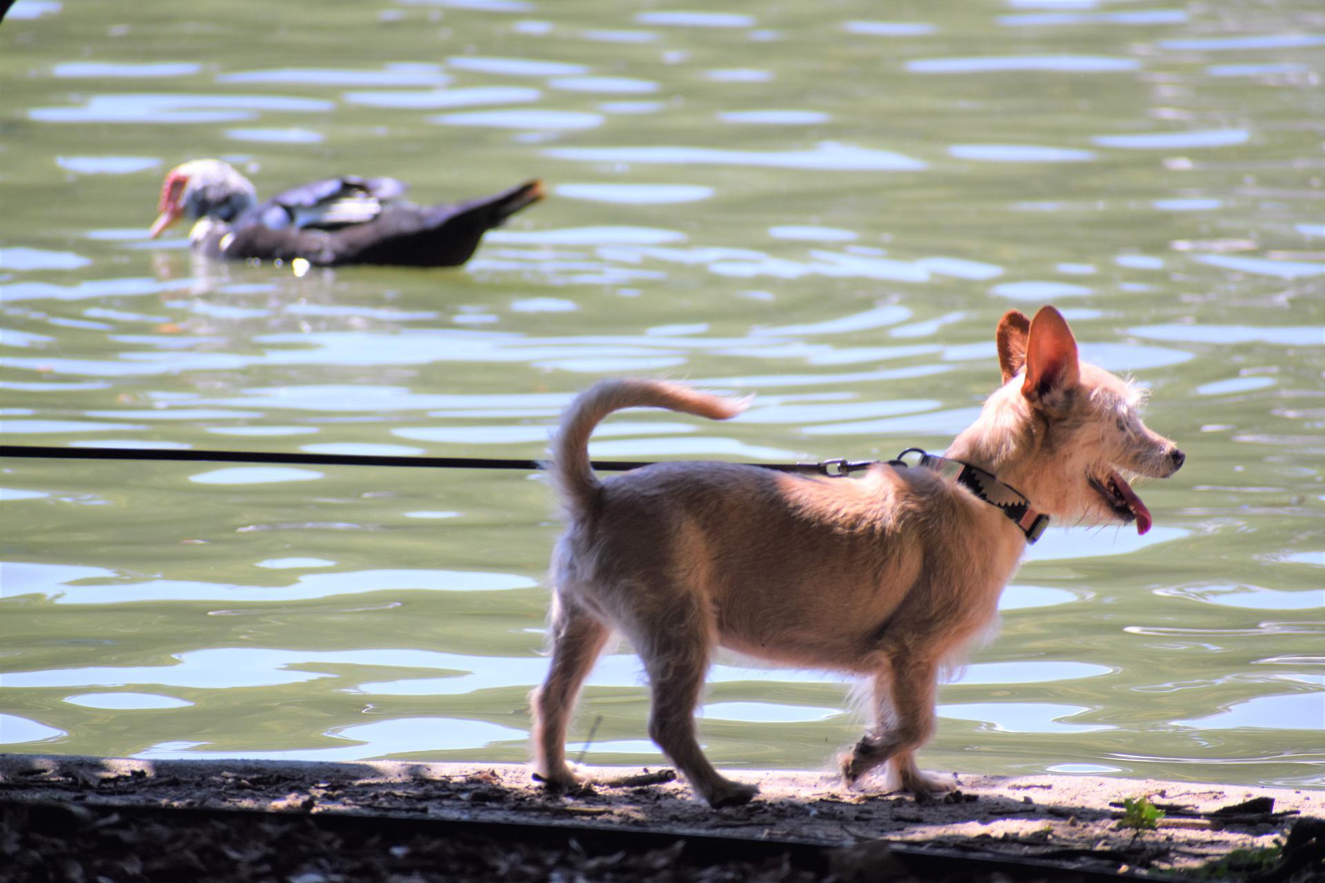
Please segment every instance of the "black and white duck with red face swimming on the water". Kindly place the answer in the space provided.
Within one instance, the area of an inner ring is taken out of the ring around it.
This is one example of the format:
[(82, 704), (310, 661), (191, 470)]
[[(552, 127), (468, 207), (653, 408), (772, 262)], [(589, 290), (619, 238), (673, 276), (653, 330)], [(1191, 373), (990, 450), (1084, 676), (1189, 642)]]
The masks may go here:
[(207, 257), (294, 261), (313, 266), (352, 263), (460, 266), (484, 233), (543, 197), (534, 179), (460, 203), (415, 205), (394, 177), (329, 177), (260, 203), (252, 181), (229, 163), (195, 159), (176, 165), (162, 185), (158, 238), (180, 220), (193, 221), (189, 242)]

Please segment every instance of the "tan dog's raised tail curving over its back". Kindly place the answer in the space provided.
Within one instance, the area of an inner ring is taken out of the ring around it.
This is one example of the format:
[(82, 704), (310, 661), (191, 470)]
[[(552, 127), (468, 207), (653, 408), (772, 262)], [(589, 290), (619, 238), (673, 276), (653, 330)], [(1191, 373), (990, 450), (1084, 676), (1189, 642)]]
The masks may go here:
[(553, 440), (553, 483), (562, 503), (572, 512), (586, 512), (603, 486), (588, 462), (588, 437), (613, 410), (666, 408), (710, 420), (735, 417), (747, 398), (721, 398), (661, 380), (603, 380), (571, 402)]

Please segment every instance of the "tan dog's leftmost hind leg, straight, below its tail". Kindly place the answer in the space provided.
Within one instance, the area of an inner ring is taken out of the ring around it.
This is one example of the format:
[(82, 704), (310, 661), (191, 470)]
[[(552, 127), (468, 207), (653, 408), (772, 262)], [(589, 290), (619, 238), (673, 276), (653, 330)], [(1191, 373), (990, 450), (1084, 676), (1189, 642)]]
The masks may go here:
[(562, 597), (553, 601), (553, 662), (543, 686), (533, 694), (535, 769), (553, 788), (567, 788), (579, 777), (566, 764), (566, 727), (575, 698), (612, 630), (582, 606)]

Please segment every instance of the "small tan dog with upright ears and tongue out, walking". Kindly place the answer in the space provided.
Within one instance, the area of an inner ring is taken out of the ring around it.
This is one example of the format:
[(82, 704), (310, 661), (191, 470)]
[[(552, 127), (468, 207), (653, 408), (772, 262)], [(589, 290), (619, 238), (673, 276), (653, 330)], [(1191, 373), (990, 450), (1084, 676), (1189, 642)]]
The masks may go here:
[(553, 445), (570, 524), (553, 556), (553, 661), (533, 696), (542, 777), (576, 781), (566, 727), (615, 629), (649, 676), (649, 735), (713, 806), (758, 792), (718, 774), (696, 741), (717, 645), (869, 676), (873, 720), (841, 759), (848, 784), (892, 761), (902, 788), (950, 788), (916, 765), (934, 729), (938, 673), (992, 625), (1027, 539), (1047, 523), (1037, 516), (1136, 520), (1143, 534), (1150, 512), (1118, 470), (1166, 478), (1183, 462), (1141, 422), (1141, 391), (1077, 360), (1053, 307), (1034, 322), (1007, 312), (996, 339), (1003, 385), (947, 450), (975, 469), (931, 458), (929, 469), (880, 463), (852, 481), (668, 462), (600, 482), (587, 443), (611, 412), (725, 420), (746, 402), (652, 380), (607, 380), (576, 398)]

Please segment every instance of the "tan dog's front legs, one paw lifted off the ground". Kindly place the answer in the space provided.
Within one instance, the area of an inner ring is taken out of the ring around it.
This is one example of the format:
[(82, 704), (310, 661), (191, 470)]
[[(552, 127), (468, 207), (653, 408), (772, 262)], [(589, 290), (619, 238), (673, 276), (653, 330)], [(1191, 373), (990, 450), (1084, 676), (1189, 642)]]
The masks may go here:
[(848, 785), (892, 761), (909, 792), (951, 790), (951, 782), (926, 776), (916, 765), (916, 749), (934, 732), (938, 666), (929, 659), (886, 659), (873, 682), (874, 725), (841, 759)]

